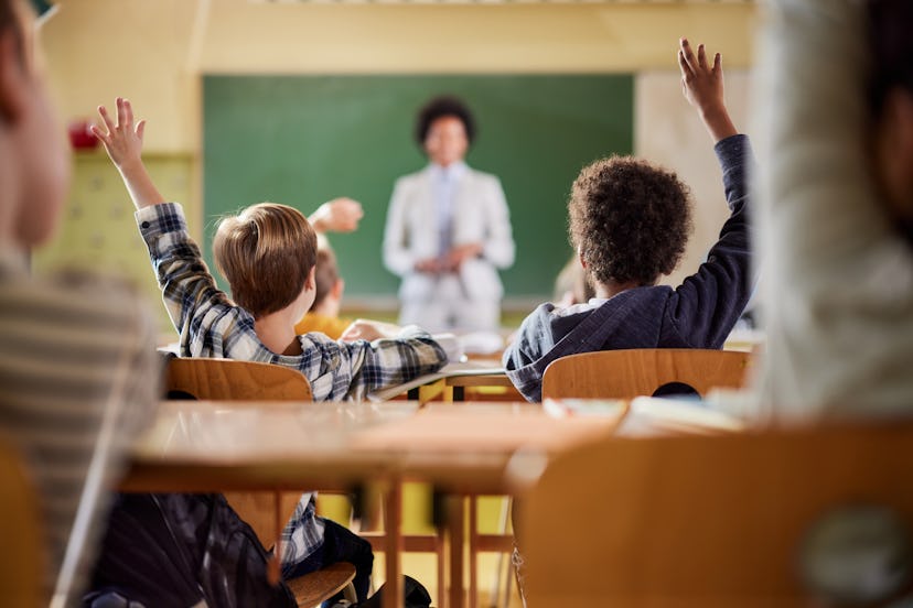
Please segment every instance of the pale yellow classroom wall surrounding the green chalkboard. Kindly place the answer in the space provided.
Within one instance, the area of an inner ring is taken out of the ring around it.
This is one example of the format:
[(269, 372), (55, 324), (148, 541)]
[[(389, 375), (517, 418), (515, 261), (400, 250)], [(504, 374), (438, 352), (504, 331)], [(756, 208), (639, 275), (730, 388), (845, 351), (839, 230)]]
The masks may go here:
[[(61, 116), (93, 117), (96, 105), (117, 95), (133, 100), (149, 121), (147, 150), (191, 165), (184, 203), (196, 237), (203, 228), (200, 76), (208, 73), (633, 72), (635, 153), (679, 171), (696, 194), (696, 237), (674, 278), (694, 269), (726, 215), (709, 140), (677, 90), (676, 41), (688, 35), (724, 53), (727, 68), (738, 74), (730, 104), (743, 117), (758, 22), (753, 3), (55, 4), (41, 39)], [(147, 280), (148, 267), (138, 272)]]

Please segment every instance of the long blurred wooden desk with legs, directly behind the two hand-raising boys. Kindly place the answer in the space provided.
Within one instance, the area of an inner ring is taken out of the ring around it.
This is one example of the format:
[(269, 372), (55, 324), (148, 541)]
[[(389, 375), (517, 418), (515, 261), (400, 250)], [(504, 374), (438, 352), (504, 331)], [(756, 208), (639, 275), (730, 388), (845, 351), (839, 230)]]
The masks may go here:
[[(610, 435), (617, 420), (555, 419), (529, 403), (259, 403), (170, 401), (138, 442), (128, 491), (275, 490), (384, 480), (386, 579), (399, 596), (399, 487), (513, 493), (550, 455)], [(465, 606), (463, 500), (450, 513), (449, 606)], [(386, 604), (386, 602), (385, 602)]]

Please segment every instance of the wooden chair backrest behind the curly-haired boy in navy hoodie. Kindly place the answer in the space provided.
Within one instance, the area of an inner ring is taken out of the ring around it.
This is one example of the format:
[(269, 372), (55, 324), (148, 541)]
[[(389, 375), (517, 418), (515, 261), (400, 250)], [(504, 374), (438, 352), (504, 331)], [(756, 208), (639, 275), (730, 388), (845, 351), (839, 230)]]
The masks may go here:
[(690, 348), (581, 352), (546, 368), (543, 399), (633, 399), (674, 382), (703, 395), (715, 387), (742, 387), (751, 358), (750, 352)]

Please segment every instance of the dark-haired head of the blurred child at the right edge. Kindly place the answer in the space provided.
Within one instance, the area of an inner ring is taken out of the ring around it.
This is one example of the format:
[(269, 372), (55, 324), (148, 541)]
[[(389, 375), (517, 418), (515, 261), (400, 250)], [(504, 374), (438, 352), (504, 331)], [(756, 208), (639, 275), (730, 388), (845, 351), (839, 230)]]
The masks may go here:
[(869, 0), (868, 10), (878, 177), (891, 214), (913, 234), (913, 2)]

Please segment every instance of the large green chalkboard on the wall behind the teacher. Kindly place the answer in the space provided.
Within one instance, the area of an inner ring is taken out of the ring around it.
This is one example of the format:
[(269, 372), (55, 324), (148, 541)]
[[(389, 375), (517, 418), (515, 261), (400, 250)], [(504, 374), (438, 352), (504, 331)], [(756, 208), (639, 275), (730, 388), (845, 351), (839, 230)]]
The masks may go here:
[(333, 235), (346, 294), (393, 295), (380, 260), (396, 177), (420, 170), (416, 110), (430, 97), (462, 97), (479, 126), (468, 162), (501, 177), (516, 263), (507, 296), (546, 297), (570, 256), (566, 198), (581, 166), (631, 153), (631, 75), (206, 76), (205, 251), (214, 219), (260, 200), (312, 211), (335, 196), (361, 200), (352, 235)]

